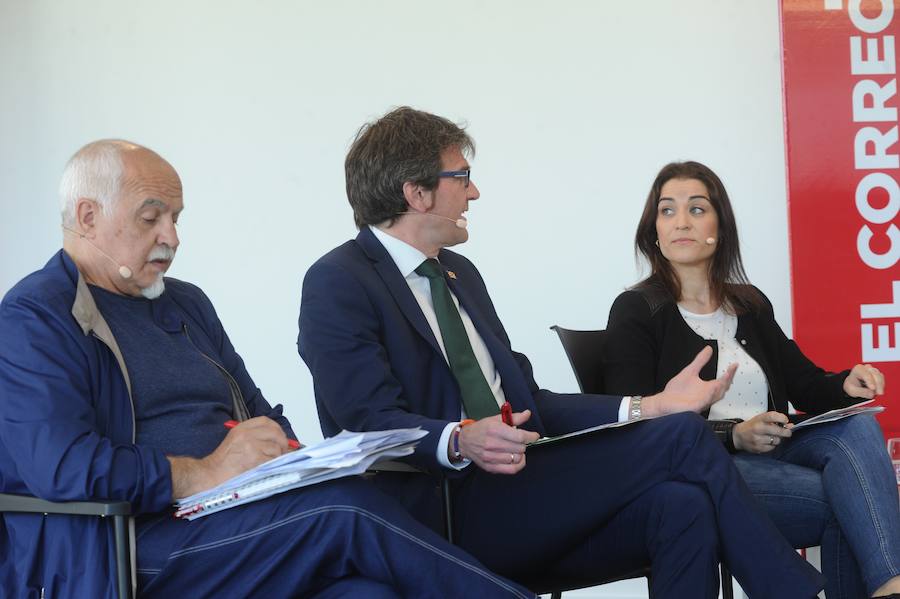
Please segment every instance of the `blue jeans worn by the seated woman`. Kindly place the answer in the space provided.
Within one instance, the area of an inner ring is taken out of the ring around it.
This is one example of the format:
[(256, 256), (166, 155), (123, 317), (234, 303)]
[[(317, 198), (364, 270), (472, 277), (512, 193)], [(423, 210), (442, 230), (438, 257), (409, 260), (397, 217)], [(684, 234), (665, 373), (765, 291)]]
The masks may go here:
[(822, 547), (829, 599), (868, 597), (900, 575), (900, 508), (878, 422), (813, 426), (735, 465), (794, 547)]

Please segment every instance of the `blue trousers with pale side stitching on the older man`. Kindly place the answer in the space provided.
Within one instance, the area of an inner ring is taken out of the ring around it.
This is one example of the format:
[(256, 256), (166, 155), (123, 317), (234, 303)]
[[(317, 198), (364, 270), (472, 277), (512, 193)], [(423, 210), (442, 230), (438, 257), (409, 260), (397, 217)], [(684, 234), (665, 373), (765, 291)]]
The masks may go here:
[(359, 478), (137, 527), (141, 597), (534, 597)]

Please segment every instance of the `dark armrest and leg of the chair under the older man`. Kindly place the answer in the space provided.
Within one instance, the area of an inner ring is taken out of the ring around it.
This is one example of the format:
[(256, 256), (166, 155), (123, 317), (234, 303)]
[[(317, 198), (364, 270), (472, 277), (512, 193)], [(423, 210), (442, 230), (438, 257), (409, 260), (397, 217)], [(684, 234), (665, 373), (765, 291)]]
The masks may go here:
[(128, 517), (131, 504), (127, 501), (44, 501), (27, 495), (0, 493), (0, 513), (63, 514), (112, 518), (116, 552), (116, 588), (119, 599), (131, 599), (131, 532)]

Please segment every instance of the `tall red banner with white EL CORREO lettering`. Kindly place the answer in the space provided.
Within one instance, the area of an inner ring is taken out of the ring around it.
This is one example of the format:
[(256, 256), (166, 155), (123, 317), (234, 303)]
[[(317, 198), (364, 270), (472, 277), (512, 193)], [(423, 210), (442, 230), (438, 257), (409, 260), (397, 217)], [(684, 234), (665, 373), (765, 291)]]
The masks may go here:
[(893, 0), (782, 0), (794, 339), (885, 374), (900, 437), (900, 144)]

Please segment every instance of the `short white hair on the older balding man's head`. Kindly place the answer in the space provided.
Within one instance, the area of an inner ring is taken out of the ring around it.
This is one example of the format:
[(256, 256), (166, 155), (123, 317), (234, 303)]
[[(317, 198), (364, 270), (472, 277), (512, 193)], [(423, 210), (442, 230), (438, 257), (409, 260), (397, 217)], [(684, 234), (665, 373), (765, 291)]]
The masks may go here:
[(75, 204), (81, 198), (96, 201), (105, 215), (112, 213), (119, 199), (124, 171), (122, 153), (137, 147), (137, 144), (122, 139), (101, 139), (75, 152), (66, 163), (59, 182), (64, 226), (75, 224)]

